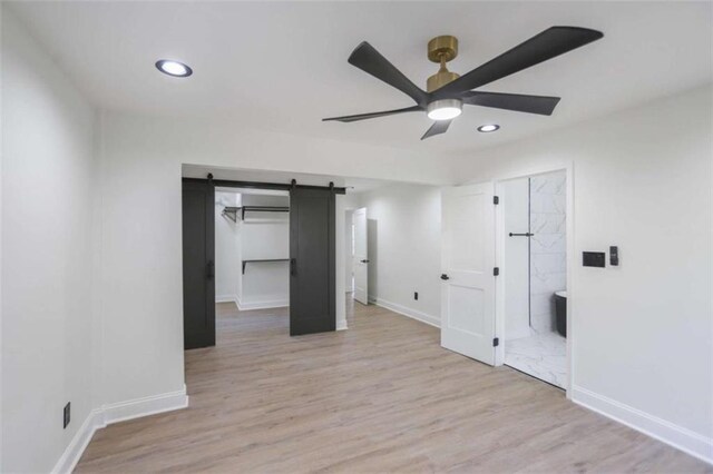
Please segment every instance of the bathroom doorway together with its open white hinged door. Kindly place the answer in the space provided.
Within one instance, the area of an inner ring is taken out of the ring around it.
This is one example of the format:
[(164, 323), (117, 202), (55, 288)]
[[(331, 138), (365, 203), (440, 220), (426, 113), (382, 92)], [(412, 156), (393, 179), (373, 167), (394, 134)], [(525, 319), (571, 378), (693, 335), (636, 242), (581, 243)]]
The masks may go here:
[(441, 194), (441, 346), (567, 389), (572, 168)]

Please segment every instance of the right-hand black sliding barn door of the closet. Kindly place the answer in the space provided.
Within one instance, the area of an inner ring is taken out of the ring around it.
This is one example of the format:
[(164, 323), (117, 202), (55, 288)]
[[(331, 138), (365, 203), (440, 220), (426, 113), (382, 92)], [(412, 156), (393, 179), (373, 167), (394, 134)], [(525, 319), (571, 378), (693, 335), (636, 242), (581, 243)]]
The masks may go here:
[(290, 191), (290, 335), (335, 329), (334, 192)]

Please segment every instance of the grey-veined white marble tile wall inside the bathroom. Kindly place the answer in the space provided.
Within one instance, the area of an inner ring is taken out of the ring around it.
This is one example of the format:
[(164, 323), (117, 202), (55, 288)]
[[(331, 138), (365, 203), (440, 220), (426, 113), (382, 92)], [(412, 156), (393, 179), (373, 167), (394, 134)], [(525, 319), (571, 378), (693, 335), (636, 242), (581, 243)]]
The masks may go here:
[(530, 322), (555, 329), (555, 292), (567, 287), (566, 184), (563, 171), (530, 178)]

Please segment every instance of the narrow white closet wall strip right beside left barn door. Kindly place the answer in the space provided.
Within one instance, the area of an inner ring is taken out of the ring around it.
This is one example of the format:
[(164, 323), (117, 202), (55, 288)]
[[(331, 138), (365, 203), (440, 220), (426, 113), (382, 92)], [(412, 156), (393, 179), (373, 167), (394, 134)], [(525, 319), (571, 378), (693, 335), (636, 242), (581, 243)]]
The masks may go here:
[(242, 284), (240, 224), (223, 216), (225, 207), (240, 206), (240, 198), (238, 192), (215, 192), (216, 302), (237, 302), (240, 295)]

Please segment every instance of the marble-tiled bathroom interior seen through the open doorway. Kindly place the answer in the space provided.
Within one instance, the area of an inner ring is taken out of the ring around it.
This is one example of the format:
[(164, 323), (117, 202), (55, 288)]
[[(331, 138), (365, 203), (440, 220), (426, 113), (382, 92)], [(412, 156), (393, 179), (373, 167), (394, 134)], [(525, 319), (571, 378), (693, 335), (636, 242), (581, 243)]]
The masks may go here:
[(505, 364), (567, 388), (567, 175), (501, 184)]

